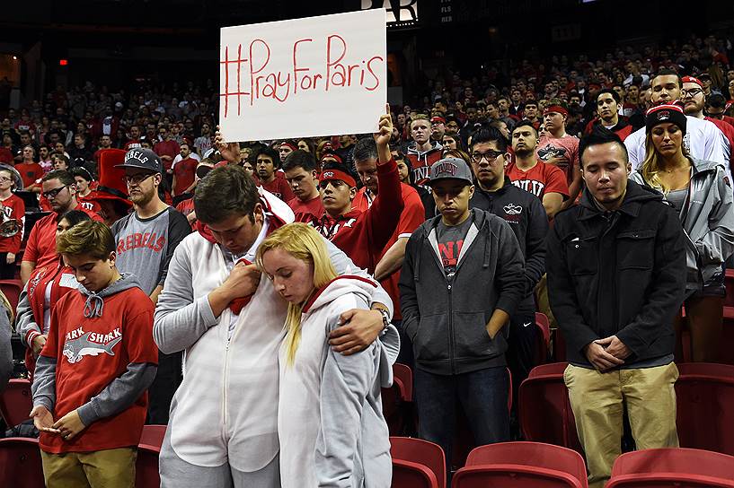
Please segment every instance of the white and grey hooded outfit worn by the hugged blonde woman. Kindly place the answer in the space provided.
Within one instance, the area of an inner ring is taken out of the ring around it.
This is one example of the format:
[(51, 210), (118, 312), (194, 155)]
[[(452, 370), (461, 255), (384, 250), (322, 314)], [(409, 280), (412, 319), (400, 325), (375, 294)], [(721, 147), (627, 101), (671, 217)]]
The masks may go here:
[(340, 276), (304, 307), (295, 361), (280, 347), (280, 478), (283, 488), (388, 488), (390, 433), (380, 391), (393, 383), (379, 342), (344, 356), (328, 344), (340, 314), (368, 309), (376, 282)]

